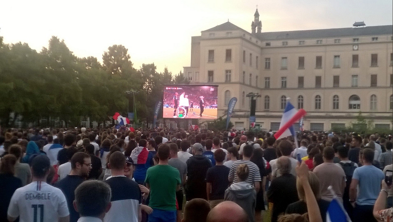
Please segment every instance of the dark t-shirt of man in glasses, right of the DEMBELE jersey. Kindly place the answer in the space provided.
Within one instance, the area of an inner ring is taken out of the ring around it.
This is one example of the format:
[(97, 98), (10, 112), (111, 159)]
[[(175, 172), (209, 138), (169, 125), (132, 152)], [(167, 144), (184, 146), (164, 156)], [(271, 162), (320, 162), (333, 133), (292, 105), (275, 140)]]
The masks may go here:
[(85, 178), (78, 175), (67, 175), (64, 179), (56, 182), (53, 186), (58, 187), (67, 199), (68, 209), (70, 211), (70, 222), (77, 222), (79, 213), (75, 211), (73, 201), (75, 200), (75, 189), (85, 181)]

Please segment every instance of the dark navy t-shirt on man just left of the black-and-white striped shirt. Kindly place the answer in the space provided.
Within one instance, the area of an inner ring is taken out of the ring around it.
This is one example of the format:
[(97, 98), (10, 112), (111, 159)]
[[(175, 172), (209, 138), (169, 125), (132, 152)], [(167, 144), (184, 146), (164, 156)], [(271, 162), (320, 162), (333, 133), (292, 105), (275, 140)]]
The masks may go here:
[(228, 175), (229, 168), (225, 167), (225, 165), (215, 165), (209, 168), (206, 174), (206, 182), (212, 184), (210, 200), (224, 199), (225, 190), (229, 185)]

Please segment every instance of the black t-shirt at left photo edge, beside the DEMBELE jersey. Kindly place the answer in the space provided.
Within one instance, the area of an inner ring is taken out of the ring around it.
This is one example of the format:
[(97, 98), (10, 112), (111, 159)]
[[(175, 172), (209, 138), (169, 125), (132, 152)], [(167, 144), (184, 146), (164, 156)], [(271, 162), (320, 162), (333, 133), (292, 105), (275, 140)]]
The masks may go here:
[(22, 181), (12, 174), (0, 174), (0, 221), (8, 221), (7, 210), (15, 190), (22, 187)]

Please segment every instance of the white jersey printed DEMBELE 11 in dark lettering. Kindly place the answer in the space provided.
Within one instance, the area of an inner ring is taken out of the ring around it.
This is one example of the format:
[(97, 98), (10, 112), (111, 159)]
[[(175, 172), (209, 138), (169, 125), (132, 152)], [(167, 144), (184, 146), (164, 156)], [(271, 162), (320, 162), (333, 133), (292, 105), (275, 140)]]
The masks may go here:
[(18, 188), (8, 207), (8, 215), (20, 222), (53, 222), (69, 214), (61, 190), (40, 181)]

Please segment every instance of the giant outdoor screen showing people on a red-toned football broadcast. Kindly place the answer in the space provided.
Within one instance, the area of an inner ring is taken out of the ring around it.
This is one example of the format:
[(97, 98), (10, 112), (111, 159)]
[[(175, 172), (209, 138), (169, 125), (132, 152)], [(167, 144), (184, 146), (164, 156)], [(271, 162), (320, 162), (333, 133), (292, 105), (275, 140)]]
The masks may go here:
[(213, 85), (164, 85), (164, 118), (217, 119), (217, 88)]

